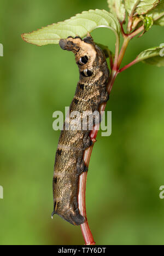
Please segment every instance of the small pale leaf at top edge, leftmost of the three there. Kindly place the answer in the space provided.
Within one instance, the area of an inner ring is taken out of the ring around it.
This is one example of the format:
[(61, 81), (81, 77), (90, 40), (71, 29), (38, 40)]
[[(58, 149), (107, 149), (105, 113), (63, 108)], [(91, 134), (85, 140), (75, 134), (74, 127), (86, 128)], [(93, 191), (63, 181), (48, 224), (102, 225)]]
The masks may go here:
[(108, 0), (108, 6), (110, 13), (115, 15), (120, 21), (125, 20), (125, 6), (122, 0)]

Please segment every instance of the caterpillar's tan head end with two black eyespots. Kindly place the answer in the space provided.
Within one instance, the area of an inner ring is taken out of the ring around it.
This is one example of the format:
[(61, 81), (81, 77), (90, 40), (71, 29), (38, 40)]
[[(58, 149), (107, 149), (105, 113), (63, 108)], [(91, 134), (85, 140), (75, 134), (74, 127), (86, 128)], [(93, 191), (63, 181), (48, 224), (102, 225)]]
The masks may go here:
[(74, 53), (81, 75), (91, 77), (96, 59), (96, 48), (92, 37), (86, 37), (83, 40), (80, 37), (68, 37), (61, 39), (59, 45), (63, 50)]

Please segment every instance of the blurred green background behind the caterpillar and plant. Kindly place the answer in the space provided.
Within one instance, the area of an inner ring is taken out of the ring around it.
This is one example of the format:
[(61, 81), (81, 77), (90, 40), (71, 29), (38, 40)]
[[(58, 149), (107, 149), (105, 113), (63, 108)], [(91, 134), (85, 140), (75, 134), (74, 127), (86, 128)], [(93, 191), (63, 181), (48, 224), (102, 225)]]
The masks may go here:
[[(27, 44), (21, 34), (96, 8), (108, 10), (106, 0), (1, 0), (1, 245), (84, 244), (79, 227), (58, 216), (51, 220), (60, 135), (52, 130), (52, 113), (71, 103), (78, 68), (72, 53)], [(132, 40), (124, 64), (164, 43), (163, 29), (154, 26)], [(113, 32), (102, 28), (92, 36), (114, 51)], [(139, 63), (114, 84), (107, 107), (112, 136), (99, 134), (87, 178), (87, 218), (97, 245), (164, 244), (163, 72)]]

